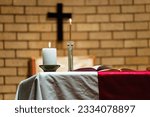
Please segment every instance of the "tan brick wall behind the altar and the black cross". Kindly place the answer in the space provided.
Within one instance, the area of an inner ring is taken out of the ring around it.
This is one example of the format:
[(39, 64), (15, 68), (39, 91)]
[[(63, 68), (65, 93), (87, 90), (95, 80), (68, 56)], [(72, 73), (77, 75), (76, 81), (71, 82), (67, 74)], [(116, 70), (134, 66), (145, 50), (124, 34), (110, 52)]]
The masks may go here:
[(56, 41), (56, 21), (46, 18), (62, 2), (73, 15), (74, 55), (94, 55), (96, 64), (145, 70), (150, 64), (150, 0), (0, 0), (0, 99), (14, 99), (18, 83), (27, 78), (28, 59), (39, 57)]

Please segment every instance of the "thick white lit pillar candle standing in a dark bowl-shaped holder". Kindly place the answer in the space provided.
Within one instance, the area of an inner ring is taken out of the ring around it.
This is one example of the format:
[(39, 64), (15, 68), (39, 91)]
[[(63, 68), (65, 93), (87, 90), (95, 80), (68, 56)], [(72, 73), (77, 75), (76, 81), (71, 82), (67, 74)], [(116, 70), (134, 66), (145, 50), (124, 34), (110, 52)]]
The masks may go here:
[(51, 43), (49, 42), (49, 48), (42, 49), (43, 65), (56, 65), (56, 48), (51, 48)]

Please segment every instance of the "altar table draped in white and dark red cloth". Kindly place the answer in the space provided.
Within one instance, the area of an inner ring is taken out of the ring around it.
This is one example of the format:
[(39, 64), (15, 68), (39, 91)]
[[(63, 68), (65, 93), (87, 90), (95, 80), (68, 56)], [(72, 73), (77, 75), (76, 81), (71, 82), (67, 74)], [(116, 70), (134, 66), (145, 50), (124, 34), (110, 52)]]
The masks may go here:
[(20, 82), (18, 100), (150, 100), (150, 72), (40, 72)]

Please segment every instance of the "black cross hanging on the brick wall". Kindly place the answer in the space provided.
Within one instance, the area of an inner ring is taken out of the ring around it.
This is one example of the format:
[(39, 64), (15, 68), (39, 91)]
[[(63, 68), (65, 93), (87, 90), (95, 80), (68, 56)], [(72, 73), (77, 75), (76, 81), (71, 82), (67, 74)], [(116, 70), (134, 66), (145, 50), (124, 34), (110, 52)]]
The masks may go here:
[(62, 13), (62, 3), (57, 4), (57, 13), (48, 13), (48, 18), (57, 18), (57, 41), (63, 41), (63, 19), (71, 18), (71, 13)]

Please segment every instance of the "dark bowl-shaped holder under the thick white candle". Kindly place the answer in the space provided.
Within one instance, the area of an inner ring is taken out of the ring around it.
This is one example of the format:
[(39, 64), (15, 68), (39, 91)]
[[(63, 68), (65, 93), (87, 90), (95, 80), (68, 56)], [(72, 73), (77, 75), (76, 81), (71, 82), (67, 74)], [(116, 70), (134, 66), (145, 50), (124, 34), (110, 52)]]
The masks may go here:
[(39, 65), (39, 67), (42, 68), (44, 72), (55, 72), (60, 65)]

